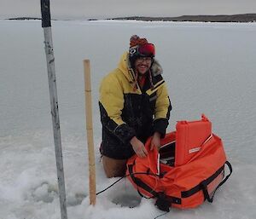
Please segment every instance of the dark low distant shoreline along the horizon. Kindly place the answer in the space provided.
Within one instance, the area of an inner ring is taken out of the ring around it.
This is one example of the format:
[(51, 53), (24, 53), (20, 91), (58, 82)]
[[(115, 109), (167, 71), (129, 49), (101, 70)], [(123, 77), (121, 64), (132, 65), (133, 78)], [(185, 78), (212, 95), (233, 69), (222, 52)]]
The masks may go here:
[[(37, 17), (17, 17), (8, 18), (5, 20), (41, 20)], [(98, 20), (98, 19), (87, 19)], [(100, 19), (99, 19), (100, 20)], [(145, 16), (131, 16), (131, 17), (117, 17), (101, 20), (142, 20), (142, 21), (192, 21), (192, 22), (256, 22), (256, 14), (232, 14), (232, 15), (183, 15), (179, 17), (145, 17)]]

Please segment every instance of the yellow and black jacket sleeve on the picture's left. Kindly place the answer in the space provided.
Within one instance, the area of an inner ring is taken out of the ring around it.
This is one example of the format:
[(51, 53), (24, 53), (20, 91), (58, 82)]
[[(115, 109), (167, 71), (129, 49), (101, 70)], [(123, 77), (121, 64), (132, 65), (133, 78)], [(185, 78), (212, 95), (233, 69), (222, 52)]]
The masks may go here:
[(118, 137), (119, 141), (128, 144), (136, 133), (121, 118), (124, 101), (123, 88), (119, 80), (113, 74), (108, 75), (100, 86), (99, 105), (102, 126)]

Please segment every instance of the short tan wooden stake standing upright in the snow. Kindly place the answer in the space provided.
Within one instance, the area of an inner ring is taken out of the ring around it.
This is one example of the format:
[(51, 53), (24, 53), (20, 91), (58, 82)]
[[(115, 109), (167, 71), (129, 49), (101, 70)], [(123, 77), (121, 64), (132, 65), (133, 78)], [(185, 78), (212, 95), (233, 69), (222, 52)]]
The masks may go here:
[(95, 205), (96, 204), (96, 173), (95, 173), (95, 155), (94, 155), (94, 142), (93, 142), (90, 61), (89, 60), (84, 60), (84, 97), (85, 97), (86, 131), (87, 131), (87, 145), (88, 145), (88, 158), (89, 158), (90, 205)]

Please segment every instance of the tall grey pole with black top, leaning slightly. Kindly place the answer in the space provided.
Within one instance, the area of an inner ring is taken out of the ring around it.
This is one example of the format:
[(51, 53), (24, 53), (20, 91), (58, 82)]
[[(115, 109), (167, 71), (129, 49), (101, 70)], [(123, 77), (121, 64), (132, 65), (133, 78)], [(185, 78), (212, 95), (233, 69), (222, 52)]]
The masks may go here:
[(44, 49), (47, 61), (49, 79), (49, 99), (52, 115), (52, 124), (55, 141), (55, 158), (57, 166), (57, 177), (59, 186), (59, 196), (61, 204), (61, 219), (67, 219), (67, 201), (61, 150), (61, 130), (58, 111), (58, 98), (55, 80), (55, 57), (53, 52), (52, 33), (50, 24), (49, 0), (41, 0), (42, 27), (44, 29)]

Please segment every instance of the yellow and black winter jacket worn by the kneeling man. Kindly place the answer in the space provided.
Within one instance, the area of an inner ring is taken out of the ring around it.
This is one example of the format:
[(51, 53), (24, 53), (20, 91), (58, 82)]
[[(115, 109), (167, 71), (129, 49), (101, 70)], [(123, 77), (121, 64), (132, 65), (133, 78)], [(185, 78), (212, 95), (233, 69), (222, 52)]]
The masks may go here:
[(110, 158), (130, 158), (133, 136), (145, 142), (157, 131), (164, 137), (172, 109), (160, 64), (154, 60), (152, 83), (147, 78), (143, 89), (130, 66), (125, 53), (118, 68), (103, 78), (100, 86), (102, 154)]

